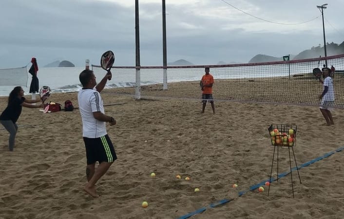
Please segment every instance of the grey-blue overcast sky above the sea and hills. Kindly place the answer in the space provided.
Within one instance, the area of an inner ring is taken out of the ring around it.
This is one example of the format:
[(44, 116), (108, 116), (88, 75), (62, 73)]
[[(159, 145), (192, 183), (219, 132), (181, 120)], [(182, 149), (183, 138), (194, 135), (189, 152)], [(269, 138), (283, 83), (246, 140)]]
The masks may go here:
[[(340, 44), (344, 0), (166, 0), (167, 61), (247, 63), (257, 54), (323, 46), (316, 5), (325, 3), (326, 41)], [(162, 0), (139, 0), (139, 17), (141, 65), (161, 66)], [(135, 0), (1, 0), (0, 20), (0, 68), (25, 66), (32, 57), (41, 67), (56, 60), (99, 64), (106, 50), (115, 52), (115, 65), (135, 65)]]

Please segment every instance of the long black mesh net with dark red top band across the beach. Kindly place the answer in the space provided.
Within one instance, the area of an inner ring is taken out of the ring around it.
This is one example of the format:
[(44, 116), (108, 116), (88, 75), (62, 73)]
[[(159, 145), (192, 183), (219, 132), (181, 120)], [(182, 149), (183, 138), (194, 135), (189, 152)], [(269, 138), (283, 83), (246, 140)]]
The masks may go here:
[[(344, 108), (344, 54), (327, 58), (232, 65), (207, 65), (214, 78), (212, 96), (215, 101), (245, 101), (320, 105), (323, 84), (313, 69), (325, 64), (336, 68), (332, 75), (335, 104)], [(201, 99), (200, 80), (205, 74), (201, 66), (142, 66), (112, 68), (112, 80), (106, 92), (133, 97)], [(97, 80), (106, 71), (93, 65)]]

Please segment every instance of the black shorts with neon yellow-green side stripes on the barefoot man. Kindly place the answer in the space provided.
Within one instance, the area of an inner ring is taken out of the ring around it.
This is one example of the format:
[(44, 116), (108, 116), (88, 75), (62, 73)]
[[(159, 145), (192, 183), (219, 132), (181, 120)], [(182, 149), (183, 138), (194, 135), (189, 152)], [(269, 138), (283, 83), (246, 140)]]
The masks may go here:
[(84, 138), (87, 165), (101, 162), (114, 162), (117, 159), (114, 145), (108, 135), (96, 139)]

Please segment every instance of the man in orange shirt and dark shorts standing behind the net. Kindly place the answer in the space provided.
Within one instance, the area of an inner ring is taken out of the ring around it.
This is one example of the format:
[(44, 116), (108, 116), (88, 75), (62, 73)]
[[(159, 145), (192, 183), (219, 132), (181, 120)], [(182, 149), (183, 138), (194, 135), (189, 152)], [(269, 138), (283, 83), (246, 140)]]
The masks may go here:
[(209, 74), (209, 67), (206, 67), (205, 69), (206, 74), (202, 77), (202, 80), (200, 82), (201, 88), (202, 88), (202, 113), (204, 113), (204, 110), (207, 105), (207, 100), (211, 104), (212, 113), (215, 114), (215, 106), (214, 101), (212, 99), (212, 85), (214, 83), (214, 78), (212, 75)]

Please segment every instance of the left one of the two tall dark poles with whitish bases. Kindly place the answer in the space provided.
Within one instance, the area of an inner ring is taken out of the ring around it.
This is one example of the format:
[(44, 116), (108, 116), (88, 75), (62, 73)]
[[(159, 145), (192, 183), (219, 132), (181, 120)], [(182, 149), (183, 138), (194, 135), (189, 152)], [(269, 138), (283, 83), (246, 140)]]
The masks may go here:
[[(140, 28), (139, 28), (138, 0), (135, 0), (135, 47), (136, 47), (136, 67), (140, 66)], [(135, 99), (141, 99), (141, 77), (140, 69), (136, 68)]]

